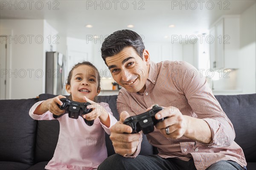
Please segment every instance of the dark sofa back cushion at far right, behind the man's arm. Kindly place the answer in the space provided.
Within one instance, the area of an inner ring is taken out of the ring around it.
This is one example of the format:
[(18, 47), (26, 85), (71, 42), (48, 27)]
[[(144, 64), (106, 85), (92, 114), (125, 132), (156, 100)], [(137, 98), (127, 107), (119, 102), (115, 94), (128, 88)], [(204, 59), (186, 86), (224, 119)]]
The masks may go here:
[(256, 162), (256, 94), (217, 95), (222, 109), (232, 122), (235, 141), (248, 162)]

